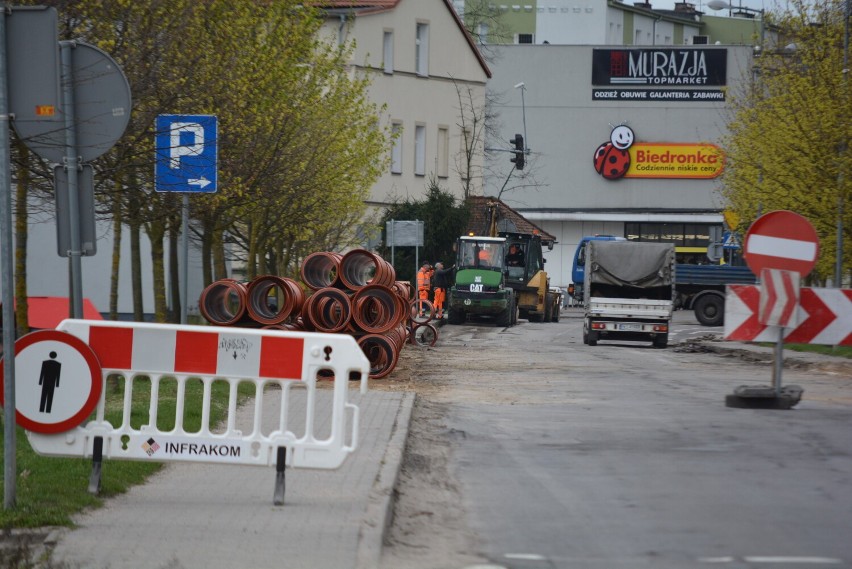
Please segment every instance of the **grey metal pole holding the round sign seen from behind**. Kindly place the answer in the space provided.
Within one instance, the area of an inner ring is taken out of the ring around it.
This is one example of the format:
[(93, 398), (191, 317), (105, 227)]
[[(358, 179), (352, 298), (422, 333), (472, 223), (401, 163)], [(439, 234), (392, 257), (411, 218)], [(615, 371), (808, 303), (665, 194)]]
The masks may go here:
[(77, 169), (77, 132), (74, 125), (74, 68), (71, 50), (76, 47), (73, 41), (59, 42), (62, 50), (62, 112), (65, 114), (65, 170), (68, 173), (68, 227), (71, 229), (71, 250), (68, 260), (71, 263), (71, 317), (83, 317), (83, 251), (80, 247), (80, 200), (78, 196)]

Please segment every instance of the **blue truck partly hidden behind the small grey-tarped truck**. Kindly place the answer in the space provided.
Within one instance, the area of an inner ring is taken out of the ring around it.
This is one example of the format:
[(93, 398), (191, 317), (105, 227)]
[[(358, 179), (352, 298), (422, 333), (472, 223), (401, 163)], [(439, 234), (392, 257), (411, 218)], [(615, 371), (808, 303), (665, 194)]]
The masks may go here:
[[(569, 293), (579, 303), (583, 302), (585, 277), (585, 250), (589, 241), (624, 241), (624, 237), (590, 235), (583, 237), (574, 252), (571, 265), (573, 292)], [(693, 310), (703, 326), (721, 326), (725, 322), (725, 287), (729, 284), (756, 284), (757, 277), (745, 266), (733, 265), (675, 265), (675, 306)]]

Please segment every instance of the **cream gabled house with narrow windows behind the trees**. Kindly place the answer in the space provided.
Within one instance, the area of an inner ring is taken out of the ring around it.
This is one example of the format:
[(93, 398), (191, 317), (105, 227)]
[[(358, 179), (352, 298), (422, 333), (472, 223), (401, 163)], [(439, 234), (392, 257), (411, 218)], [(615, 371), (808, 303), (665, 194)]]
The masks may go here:
[[(433, 176), (462, 197), (467, 170), (463, 119), (472, 120), (471, 105), (482, 112), (488, 65), (449, 0), (352, 4), (324, 2), (324, 33), (355, 42), (351, 64), (356, 72), (370, 73), (370, 96), (386, 106), (382, 126), (398, 134), (389, 149), (391, 166), (371, 190), (371, 205), (421, 199)], [(483, 144), (480, 137), (473, 147), (475, 194), (481, 193)]]

